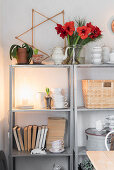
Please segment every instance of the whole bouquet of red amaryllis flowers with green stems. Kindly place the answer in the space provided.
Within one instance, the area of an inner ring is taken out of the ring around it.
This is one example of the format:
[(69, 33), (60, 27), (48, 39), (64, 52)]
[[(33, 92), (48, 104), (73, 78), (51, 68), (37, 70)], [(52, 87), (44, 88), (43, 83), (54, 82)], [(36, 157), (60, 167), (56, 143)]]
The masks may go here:
[[(61, 24), (57, 24), (55, 27), (57, 34), (60, 34), (60, 37), (63, 39), (67, 37), (68, 46), (76, 47), (77, 45), (83, 47), (87, 43), (91, 41), (95, 41), (98, 38), (102, 37), (101, 30), (91, 24), (91, 22), (87, 23), (85, 20), (76, 21), (77, 25), (75, 26), (74, 21), (66, 22), (63, 26)], [(81, 50), (82, 48), (80, 48)], [(80, 54), (80, 50), (78, 53), (78, 58)], [(69, 49), (69, 56), (64, 61), (65, 64), (72, 64), (73, 58), (73, 50)], [(78, 58), (75, 58), (75, 63), (79, 64)]]

